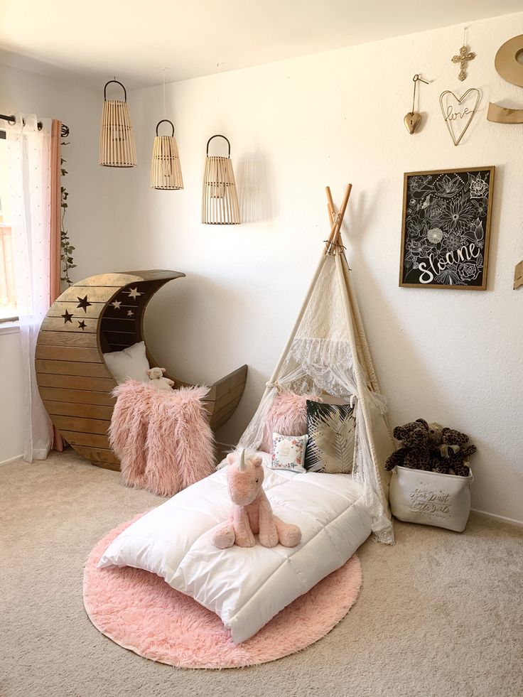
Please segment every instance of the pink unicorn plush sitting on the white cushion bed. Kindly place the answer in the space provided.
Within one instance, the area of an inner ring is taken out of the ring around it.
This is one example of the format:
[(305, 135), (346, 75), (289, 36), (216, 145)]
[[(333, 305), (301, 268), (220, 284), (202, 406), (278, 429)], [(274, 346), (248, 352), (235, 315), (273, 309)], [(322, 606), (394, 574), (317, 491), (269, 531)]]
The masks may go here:
[(278, 543), (285, 547), (295, 547), (301, 540), (301, 530), (297, 525), (284, 523), (274, 515), (269, 499), (262, 488), (264, 468), (262, 458), (245, 458), (245, 451), (235, 462), (234, 455), (227, 455), (227, 483), (232, 499), (232, 511), (226, 523), (220, 525), (212, 534), (212, 544), (227, 549), (237, 544), (239, 547), (253, 547), (254, 535), (259, 534), (259, 544), (274, 547)]

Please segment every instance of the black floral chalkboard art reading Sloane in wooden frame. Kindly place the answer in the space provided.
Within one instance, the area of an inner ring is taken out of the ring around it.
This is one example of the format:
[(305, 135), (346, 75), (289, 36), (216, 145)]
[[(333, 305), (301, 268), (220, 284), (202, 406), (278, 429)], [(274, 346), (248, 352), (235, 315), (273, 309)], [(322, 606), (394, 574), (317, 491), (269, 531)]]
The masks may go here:
[(495, 167), (404, 175), (399, 285), (487, 288)]

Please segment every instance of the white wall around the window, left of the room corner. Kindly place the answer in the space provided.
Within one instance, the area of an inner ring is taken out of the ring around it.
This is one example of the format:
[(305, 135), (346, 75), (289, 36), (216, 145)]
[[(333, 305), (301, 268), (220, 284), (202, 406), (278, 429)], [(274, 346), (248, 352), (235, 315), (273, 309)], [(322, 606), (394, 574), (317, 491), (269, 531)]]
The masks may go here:
[[(36, 113), (70, 127), (63, 183), (70, 193), (66, 225), (78, 266), (73, 280), (106, 271), (121, 247), (118, 230), (113, 234), (112, 197), (97, 163), (102, 99), (102, 92), (0, 65), (2, 114)], [(19, 335), (0, 333), (0, 463), (22, 452), (21, 370)]]

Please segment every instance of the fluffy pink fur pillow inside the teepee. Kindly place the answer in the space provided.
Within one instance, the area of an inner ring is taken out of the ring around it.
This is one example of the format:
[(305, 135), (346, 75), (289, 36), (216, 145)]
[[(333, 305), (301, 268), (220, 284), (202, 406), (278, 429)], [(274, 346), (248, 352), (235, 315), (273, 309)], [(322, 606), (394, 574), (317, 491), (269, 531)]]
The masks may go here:
[(265, 418), (264, 437), (259, 446), (265, 453), (272, 453), (272, 434), (281, 436), (305, 436), (307, 433), (307, 400), (320, 401), (318, 396), (280, 392)]

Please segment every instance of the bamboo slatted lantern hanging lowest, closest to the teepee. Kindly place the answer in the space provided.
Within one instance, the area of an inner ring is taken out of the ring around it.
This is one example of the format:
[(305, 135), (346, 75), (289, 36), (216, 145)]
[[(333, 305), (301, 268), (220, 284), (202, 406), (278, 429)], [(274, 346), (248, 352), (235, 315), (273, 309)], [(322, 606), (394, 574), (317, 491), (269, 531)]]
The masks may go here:
[[(227, 157), (209, 155), (209, 144), (213, 138), (227, 141)], [(239, 225), (241, 222), (230, 156), (231, 144), (225, 136), (217, 134), (207, 141), (202, 193), (202, 222), (207, 225)]]

